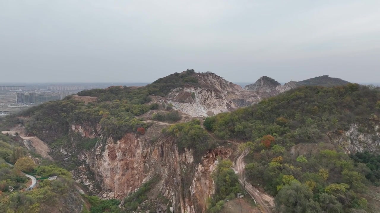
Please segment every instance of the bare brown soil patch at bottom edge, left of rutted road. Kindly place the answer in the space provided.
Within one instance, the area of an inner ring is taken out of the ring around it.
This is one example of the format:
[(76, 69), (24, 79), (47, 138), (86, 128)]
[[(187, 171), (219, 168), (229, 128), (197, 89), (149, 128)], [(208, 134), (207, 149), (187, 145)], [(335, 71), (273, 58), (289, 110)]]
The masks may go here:
[(253, 201), (248, 197), (230, 200), (224, 204), (221, 213), (261, 213), (260, 209), (251, 202)]

